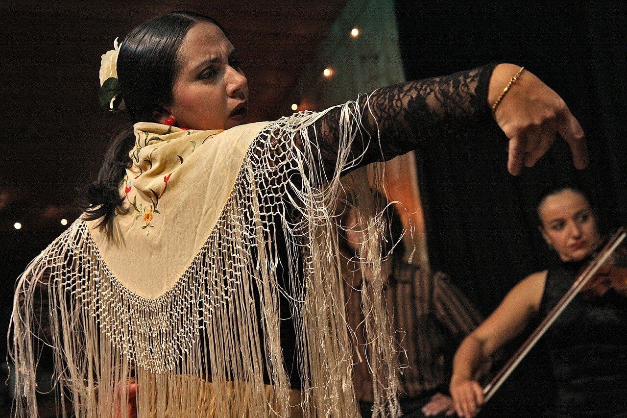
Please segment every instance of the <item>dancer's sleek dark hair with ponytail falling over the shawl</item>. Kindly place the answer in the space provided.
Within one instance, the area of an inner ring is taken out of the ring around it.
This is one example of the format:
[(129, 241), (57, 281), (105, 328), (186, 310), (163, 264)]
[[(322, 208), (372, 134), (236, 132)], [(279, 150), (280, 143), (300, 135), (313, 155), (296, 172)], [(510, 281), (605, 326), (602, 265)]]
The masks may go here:
[[(200, 22), (213, 23), (224, 32), (209, 16), (175, 11), (140, 24), (122, 41), (117, 75), (120, 95), (133, 123), (154, 122), (155, 112), (172, 103), (172, 88), (180, 67), (177, 52), (187, 31)], [(116, 132), (97, 180), (82, 192), (87, 200), (85, 219), (101, 219), (98, 227), (105, 231), (124, 201), (119, 187), (126, 169), (132, 166), (129, 152), (134, 143), (132, 127)]]

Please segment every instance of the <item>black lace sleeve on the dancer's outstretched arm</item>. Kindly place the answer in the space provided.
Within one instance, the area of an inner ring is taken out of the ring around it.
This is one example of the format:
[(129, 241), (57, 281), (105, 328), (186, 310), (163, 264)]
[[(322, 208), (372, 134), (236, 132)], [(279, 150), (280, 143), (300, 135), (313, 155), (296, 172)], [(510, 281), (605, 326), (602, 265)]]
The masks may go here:
[[(443, 77), (426, 78), (379, 88), (357, 99), (362, 124), (370, 138), (352, 144), (352, 155), (363, 158), (348, 171), (417, 149), (455, 132), (469, 122), (490, 117), (488, 84), (496, 63)], [(315, 124), (320, 159), (327, 174), (337, 160), (341, 108), (331, 109)], [(376, 141), (377, 129), (379, 141)], [(374, 139), (374, 140), (370, 140)]]

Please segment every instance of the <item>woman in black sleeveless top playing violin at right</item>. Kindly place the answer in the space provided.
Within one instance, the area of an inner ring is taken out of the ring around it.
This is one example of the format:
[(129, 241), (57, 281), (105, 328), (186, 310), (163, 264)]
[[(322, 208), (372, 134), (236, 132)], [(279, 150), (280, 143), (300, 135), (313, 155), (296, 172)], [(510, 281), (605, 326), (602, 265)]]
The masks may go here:
[[(537, 205), (539, 230), (557, 254), (553, 267), (519, 282), (498, 308), (462, 341), (453, 360), (450, 392), (461, 417), (484, 402), (473, 380), (481, 362), (517, 336), (538, 315), (544, 318), (571, 288), (577, 273), (601, 245), (598, 217), (576, 187), (555, 188)], [(545, 417), (627, 416), (627, 297), (609, 289), (577, 295), (544, 338), (557, 382)]]

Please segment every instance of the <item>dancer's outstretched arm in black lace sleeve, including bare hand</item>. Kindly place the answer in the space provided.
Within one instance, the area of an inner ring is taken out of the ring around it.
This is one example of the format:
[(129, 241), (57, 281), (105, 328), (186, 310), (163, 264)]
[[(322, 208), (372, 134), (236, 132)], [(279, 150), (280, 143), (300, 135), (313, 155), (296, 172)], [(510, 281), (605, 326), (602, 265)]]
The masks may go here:
[[(373, 161), (393, 158), (472, 122), (492, 117), (492, 104), (520, 67), (484, 65), (455, 74), (379, 88), (357, 100), (366, 134), (351, 147), (363, 158), (342, 174)], [(342, 107), (329, 110), (316, 124), (325, 172), (335, 169)], [(523, 163), (535, 164), (559, 132), (569, 142), (574, 163), (587, 162), (583, 131), (564, 101), (525, 70), (493, 115), (509, 141), (508, 169), (518, 174)], [(379, 140), (377, 141), (377, 134)]]

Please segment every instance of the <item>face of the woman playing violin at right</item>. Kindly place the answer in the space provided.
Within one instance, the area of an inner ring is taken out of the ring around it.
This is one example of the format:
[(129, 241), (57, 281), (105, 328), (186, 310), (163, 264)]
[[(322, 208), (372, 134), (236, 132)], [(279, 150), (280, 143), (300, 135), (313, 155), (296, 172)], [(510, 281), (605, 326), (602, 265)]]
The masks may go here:
[(548, 196), (538, 208), (540, 232), (562, 261), (579, 261), (601, 242), (597, 220), (586, 198), (572, 190)]

